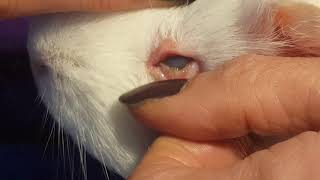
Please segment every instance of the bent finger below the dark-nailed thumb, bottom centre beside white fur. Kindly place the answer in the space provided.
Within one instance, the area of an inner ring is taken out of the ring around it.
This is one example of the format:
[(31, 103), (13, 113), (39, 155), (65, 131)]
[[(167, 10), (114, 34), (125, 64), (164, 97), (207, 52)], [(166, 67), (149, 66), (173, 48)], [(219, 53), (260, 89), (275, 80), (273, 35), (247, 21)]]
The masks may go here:
[[(159, 137), (148, 150), (130, 180), (206, 179), (204, 169), (217, 170), (242, 160), (241, 141), (200, 143)], [(208, 176), (212, 179), (212, 176)]]

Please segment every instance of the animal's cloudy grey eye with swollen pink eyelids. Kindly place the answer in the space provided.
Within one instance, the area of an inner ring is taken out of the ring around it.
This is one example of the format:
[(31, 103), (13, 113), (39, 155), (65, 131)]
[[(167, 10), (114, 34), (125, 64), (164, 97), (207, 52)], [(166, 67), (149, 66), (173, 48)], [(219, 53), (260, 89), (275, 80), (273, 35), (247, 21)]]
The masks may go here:
[(190, 79), (200, 72), (200, 62), (175, 42), (164, 40), (151, 53), (147, 69), (155, 80)]

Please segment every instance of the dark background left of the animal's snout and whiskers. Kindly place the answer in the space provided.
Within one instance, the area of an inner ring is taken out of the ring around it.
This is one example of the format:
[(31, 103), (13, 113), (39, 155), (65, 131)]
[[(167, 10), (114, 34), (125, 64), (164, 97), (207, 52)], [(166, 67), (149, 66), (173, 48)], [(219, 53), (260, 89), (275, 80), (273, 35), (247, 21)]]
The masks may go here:
[[(58, 127), (37, 98), (26, 39), (25, 19), (0, 21), (0, 179), (108, 179), (99, 162), (89, 155), (84, 176), (77, 147), (67, 136), (64, 142), (61, 138), (58, 141)], [(120, 180), (112, 172), (109, 176)]]

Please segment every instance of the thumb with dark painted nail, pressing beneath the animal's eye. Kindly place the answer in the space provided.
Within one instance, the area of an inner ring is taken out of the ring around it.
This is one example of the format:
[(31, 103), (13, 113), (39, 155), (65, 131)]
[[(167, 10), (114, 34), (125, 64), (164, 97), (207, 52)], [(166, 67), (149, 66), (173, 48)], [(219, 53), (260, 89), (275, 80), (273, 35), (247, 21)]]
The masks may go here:
[[(319, 58), (248, 55), (200, 74), (177, 95), (129, 107), (152, 128), (191, 140), (295, 134), (320, 129), (319, 79)], [(160, 97), (154, 90), (161, 87), (172, 95), (181, 82), (155, 83), (121, 100)]]

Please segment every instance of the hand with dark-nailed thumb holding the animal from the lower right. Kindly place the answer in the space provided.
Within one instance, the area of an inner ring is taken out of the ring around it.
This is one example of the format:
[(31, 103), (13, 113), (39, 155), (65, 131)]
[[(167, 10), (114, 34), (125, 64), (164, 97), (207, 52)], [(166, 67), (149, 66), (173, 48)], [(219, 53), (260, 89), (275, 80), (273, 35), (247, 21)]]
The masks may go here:
[[(198, 141), (160, 137), (131, 179), (319, 179), (319, 69), (319, 58), (243, 56), (178, 95), (130, 106), (149, 126)], [(301, 134), (242, 159), (226, 139), (248, 133)]]

